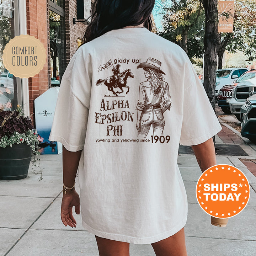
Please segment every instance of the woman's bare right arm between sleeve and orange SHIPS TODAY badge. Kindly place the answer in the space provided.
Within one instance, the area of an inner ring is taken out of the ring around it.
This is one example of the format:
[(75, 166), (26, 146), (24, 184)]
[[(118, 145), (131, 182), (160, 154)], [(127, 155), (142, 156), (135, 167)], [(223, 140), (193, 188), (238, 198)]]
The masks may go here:
[(192, 146), (198, 165), (202, 172), (209, 167), (216, 165), (216, 155), (213, 139), (210, 138), (206, 142)]

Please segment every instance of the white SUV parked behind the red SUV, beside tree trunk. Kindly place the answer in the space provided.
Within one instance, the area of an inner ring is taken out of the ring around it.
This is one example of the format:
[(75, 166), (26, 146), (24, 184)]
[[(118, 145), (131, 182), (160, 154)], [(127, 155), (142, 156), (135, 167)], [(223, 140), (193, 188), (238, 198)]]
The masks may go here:
[(218, 96), (219, 90), (222, 89), (223, 86), (233, 84), (233, 82), (246, 71), (248, 71), (247, 68), (218, 69), (216, 71), (215, 95)]

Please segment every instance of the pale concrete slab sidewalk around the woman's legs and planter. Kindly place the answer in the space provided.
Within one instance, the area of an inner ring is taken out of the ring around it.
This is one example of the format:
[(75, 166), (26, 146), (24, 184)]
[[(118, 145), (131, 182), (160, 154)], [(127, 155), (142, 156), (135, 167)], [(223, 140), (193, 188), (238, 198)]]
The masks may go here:
[[(215, 138), (218, 144), (232, 144), (224, 142), (221, 134)], [(217, 164), (237, 167), (251, 185), (249, 203), (239, 215), (229, 219), (226, 228), (211, 225), (210, 216), (197, 203), (195, 189), (201, 170), (195, 156), (178, 156), (188, 197), (185, 235), (189, 256), (255, 255), (256, 177), (239, 158), (255, 159), (256, 147), (250, 142), (240, 143), (248, 156), (217, 156)], [(74, 213), (76, 228), (65, 227), (61, 222), (62, 155), (41, 155), (40, 165), (41, 181), (38, 181), (40, 175), (31, 170), (26, 179), (0, 181), (0, 256), (97, 256), (95, 237), (82, 227), (81, 215)], [(76, 191), (79, 193), (78, 181)], [(130, 244), (130, 255), (155, 254), (151, 245)]]

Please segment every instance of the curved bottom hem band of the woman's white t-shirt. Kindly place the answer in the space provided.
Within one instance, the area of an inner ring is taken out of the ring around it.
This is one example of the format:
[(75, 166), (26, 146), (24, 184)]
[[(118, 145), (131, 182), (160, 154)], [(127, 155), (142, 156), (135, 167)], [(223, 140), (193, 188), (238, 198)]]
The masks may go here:
[(127, 236), (127, 235), (119, 235), (119, 234), (112, 234), (112, 233), (107, 233), (104, 231), (99, 231), (96, 229), (91, 228), (89, 225), (87, 225), (84, 220), (82, 220), (82, 226), (88, 230), (90, 233), (99, 236), (101, 238), (106, 238), (110, 240), (115, 240), (115, 241), (120, 241), (120, 242), (128, 242), (132, 244), (152, 244), (154, 242), (161, 241), (163, 239), (168, 238), (169, 236), (172, 236), (176, 234), (178, 231), (180, 231), (187, 222), (187, 218), (179, 222), (174, 228), (171, 230), (165, 231), (164, 233), (155, 235), (155, 236), (150, 236), (146, 238), (137, 238), (134, 236)]

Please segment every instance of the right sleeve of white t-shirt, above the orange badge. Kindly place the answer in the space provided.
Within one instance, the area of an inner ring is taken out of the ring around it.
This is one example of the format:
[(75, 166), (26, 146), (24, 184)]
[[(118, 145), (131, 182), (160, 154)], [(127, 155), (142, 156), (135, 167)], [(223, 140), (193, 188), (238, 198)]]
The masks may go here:
[(191, 146), (206, 142), (222, 127), (189, 60), (186, 67), (180, 144)]

